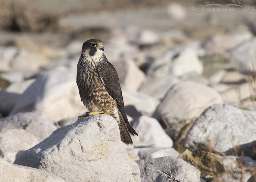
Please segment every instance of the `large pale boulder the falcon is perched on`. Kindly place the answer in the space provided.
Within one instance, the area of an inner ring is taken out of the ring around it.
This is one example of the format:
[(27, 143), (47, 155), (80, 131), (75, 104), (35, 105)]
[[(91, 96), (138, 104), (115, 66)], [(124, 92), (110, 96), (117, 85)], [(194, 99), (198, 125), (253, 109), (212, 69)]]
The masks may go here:
[(92, 115), (58, 128), (14, 163), (43, 169), (66, 182), (140, 181), (139, 168), (120, 140), (117, 121), (109, 115)]

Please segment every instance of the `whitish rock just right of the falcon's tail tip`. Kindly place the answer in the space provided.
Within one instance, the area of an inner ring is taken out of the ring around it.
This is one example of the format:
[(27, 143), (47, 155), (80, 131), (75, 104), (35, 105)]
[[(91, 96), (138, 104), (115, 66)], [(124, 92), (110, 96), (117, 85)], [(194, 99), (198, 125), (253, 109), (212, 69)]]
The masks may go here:
[(139, 136), (131, 136), (133, 143), (138, 146), (163, 147), (173, 146), (172, 139), (164, 132), (163, 128), (155, 118), (141, 116), (133, 123), (133, 129)]

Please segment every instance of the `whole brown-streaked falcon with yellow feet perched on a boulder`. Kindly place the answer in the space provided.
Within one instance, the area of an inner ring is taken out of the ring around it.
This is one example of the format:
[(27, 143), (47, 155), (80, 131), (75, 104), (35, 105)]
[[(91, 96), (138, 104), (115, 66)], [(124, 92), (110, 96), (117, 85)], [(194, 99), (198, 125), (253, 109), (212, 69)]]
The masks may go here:
[(133, 144), (130, 133), (138, 134), (127, 119), (117, 71), (103, 51), (100, 40), (90, 39), (83, 43), (76, 83), (80, 98), (90, 112), (79, 118), (92, 114), (111, 115), (118, 123), (122, 142)]

